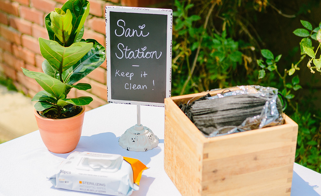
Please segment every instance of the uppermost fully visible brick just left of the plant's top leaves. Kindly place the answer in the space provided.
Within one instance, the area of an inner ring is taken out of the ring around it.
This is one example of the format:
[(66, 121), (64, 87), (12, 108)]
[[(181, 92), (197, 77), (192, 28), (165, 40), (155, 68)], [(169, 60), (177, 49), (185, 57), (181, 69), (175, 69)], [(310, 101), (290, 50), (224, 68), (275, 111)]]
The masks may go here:
[(44, 13), (35, 8), (20, 6), (20, 16), (30, 22), (37, 23), (41, 26), (44, 25)]

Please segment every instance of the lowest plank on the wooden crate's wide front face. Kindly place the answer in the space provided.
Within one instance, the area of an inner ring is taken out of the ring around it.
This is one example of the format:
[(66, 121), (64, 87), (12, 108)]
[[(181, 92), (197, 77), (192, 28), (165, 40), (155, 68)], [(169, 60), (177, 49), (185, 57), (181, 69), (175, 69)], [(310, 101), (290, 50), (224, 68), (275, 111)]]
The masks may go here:
[[(293, 164), (203, 183), (203, 196), (290, 196)], [(271, 175), (273, 174), (273, 175)], [(249, 178), (249, 175), (252, 178)], [(259, 177), (258, 177), (259, 176)], [(281, 176), (281, 177), (280, 177)], [(287, 178), (284, 179), (283, 176)], [(247, 180), (245, 180), (247, 179)], [(259, 183), (258, 183), (259, 181)]]

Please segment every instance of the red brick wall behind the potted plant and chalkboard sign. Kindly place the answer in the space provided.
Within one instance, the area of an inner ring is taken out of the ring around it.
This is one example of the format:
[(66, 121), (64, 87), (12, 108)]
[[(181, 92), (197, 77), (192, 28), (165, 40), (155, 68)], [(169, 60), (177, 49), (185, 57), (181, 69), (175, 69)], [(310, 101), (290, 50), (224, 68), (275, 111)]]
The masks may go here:
[[(42, 90), (40, 85), (22, 73), (21, 67), (31, 71), (42, 71), (44, 58), (40, 54), (38, 38), (48, 38), (44, 17), (55, 7), (61, 8), (66, 0), (0, 0), (0, 71), (12, 78), (14, 85), (26, 95), (33, 97)], [(158, 0), (159, 1), (159, 0)], [(83, 38), (96, 39), (105, 46), (105, 6), (146, 6), (157, 0), (89, 0), (90, 15), (85, 23)], [(92, 71), (82, 82), (91, 89), (72, 89), (69, 98), (91, 96), (94, 101), (86, 110), (107, 103), (106, 61)]]

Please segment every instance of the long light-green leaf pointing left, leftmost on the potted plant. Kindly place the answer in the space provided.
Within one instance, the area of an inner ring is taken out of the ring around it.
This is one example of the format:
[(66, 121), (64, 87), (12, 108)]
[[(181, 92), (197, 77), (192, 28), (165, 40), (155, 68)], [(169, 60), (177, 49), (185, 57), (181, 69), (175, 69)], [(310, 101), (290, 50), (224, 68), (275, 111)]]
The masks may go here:
[(57, 100), (65, 98), (66, 85), (60, 80), (48, 76), (42, 72), (29, 71), (22, 68), (24, 75), (36, 79), (38, 84), (48, 93), (52, 94)]

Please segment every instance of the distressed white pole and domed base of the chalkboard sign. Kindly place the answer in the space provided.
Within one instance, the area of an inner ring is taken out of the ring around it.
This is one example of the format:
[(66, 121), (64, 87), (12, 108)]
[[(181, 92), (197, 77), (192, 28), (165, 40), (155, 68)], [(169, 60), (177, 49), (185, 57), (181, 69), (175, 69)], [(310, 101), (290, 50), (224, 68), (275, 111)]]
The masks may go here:
[(129, 151), (147, 151), (158, 146), (159, 139), (151, 129), (140, 122), (140, 104), (137, 104), (137, 124), (127, 129), (119, 138), (119, 145)]

